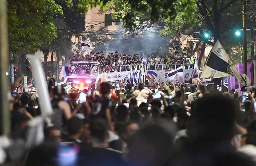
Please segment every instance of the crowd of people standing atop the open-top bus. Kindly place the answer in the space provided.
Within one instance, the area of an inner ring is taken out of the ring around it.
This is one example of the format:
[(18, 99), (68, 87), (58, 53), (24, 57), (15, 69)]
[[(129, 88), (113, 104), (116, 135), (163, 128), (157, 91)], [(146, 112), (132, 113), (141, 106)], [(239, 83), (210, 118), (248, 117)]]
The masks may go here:
[[(182, 55), (175, 56), (150, 56), (146, 57), (144, 54), (118, 54), (116, 51), (115, 54), (109, 53), (108, 55), (104, 55), (103, 51), (97, 52), (94, 54), (93, 52), (85, 56), (82, 56), (81, 53), (77, 52), (75, 56), (69, 59), (69, 63), (77, 62), (77, 61), (88, 61), (88, 62), (99, 62), (101, 72), (114, 72), (114, 71), (127, 71), (131, 69), (139, 69), (141, 64), (148, 65), (148, 69), (175, 69), (175, 64), (181, 66), (181, 64), (190, 64), (191, 68), (194, 68), (195, 64), (195, 56), (185, 57)], [(161, 64), (161, 65), (160, 65)], [(163, 64), (163, 66), (162, 66)], [(188, 65), (189, 66), (189, 65)], [(187, 69), (189, 68), (188, 66)]]

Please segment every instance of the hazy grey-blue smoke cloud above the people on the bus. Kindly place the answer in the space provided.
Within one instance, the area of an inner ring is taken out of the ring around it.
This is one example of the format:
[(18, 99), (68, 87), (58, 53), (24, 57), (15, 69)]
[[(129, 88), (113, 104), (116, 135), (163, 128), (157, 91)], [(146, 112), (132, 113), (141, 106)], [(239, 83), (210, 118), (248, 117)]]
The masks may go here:
[[(112, 39), (107, 41), (108, 53), (117, 51), (119, 54), (139, 54), (144, 53), (147, 57), (164, 56), (168, 53), (170, 37), (160, 36), (160, 27), (147, 29), (138, 35), (125, 35), (123, 32), (114, 32)], [(106, 44), (96, 45), (94, 52), (103, 51), (106, 54)]]

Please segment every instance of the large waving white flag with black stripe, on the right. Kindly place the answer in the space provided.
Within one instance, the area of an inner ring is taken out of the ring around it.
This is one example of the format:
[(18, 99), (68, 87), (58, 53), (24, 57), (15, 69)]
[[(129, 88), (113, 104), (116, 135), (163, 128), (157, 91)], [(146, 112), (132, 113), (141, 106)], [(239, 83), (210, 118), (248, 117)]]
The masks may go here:
[(204, 65), (201, 78), (221, 78), (235, 76), (241, 85), (248, 86), (250, 79), (245, 74), (240, 74), (230, 59), (223, 46), (217, 40)]

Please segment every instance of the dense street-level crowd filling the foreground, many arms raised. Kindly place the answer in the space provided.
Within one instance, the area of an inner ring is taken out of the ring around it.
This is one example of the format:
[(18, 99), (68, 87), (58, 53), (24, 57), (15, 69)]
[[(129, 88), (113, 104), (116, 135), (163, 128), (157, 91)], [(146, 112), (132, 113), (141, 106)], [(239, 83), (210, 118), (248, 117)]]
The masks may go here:
[[(44, 111), (37, 95), (12, 92), (14, 147), (4, 149), (7, 163), (255, 165), (255, 88), (239, 95), (233, 89), (207, 89), (199, 79), (151, 88), (143, 83), (133, 87), (129, 81), (120, 88), (99, 81), (83, 92), (71, 86), (66, 93), (54, 79), (48, 81), (53, 113), (43, 133), (32, 130), (30, 123)], [(43, 142), (29, 144), (41, 135)]]

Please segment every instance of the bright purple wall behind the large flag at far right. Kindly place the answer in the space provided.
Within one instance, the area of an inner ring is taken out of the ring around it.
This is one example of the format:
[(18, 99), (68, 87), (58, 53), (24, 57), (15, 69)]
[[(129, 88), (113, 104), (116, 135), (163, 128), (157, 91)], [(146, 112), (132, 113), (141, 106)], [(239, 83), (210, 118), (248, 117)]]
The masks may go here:
[[(252, 62), (247, 63), (247, 76), (251, 80), (251, 84), (249, 84), (249, 88), (252, 86), (255, 87), (255, 74), (256, 74), (255, 64), (256, 64), (255, 61), (253, 63)], [(243, 73), (243, 66), (244, 66), (243, 64), (238, 64), (235, 67), (239, 73)], [(242, 87), (242, 85), (238, 82), (238, 80), (235, 77), (228, 78), (228, 90), (229, 91), (231, 89), (235, 89), (240, 94), (241, 87)]]

